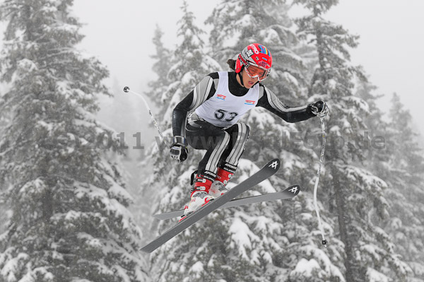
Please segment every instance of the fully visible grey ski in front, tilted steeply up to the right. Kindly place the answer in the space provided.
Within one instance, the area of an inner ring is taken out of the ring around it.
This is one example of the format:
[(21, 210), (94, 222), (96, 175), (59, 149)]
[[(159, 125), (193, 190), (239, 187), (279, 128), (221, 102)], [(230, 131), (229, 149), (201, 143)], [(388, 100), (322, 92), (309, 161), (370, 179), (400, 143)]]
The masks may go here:
[(171, 240), (179, 233), (182, 233), (182, 231), (186, 230), (194, 223), (201, 220), (201, 218), (204, 218), (209, 213), (220, 208), (220, 206), (223, 206), (228, 201), (234, 199), (236, 196), (242, 194), (243, 192), (246, 192), (248, 189), (254, 187), (256, 184), (259, 184), (260, 182), (266, 180), (268, 177), (274, 175), (277, 172), (278, 168), (280, 168), (280, 160), (276, 158), (269, 161), (269, 163), (264, 165), (263, 168), (255, 172), (245, 181), (233, 187), (232, 189), (230, 189), (230, 191), (223, 194), (222, 196), (219, 196), (213, 201), (210, 201), (208, 204), (202, 206), (197, 211), (194, 211), (194, 213), (189, 214), (187, 218), (184, 218), (184, 220), (177, 223), (177, 225), (170, 228), (165, 233), (159, 235), (155, 240), (142, 247), (141, 251), (150, 253), (153, 252), (155, 249), (158, 249), (158, 247), (162, 246), (163, 244), (165, 244), (165, 242)]

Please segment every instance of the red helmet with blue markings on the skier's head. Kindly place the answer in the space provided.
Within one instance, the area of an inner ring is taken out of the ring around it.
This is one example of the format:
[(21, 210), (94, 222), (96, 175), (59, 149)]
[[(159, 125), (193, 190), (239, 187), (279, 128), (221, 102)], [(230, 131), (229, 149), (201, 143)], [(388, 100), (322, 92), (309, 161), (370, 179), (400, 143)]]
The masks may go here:
[[(269, 75), (269, 71), (271, 71), (271, 52), (264, 45), (253, 43), (245, 47), (238, 55), (235, 63), (235, 72), (240, 73), (243, 65), (250, 77), (257, 77), (259, 81), (263, 81)], [(249, 69), (249, 66), (252, 67)]]

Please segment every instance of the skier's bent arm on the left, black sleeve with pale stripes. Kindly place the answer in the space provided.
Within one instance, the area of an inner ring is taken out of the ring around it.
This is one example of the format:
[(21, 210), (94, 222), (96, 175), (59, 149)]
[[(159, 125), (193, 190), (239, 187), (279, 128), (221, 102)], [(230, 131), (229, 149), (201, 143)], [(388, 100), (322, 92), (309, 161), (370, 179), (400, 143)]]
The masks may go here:
[(185, 137), (185, 126), (189, 112), (193, 112), (203, 102), (211, 98), (218, 85), (218, 73), (208, 74), (186, 96), (172, 112), (172, 133), (174, 136)]

